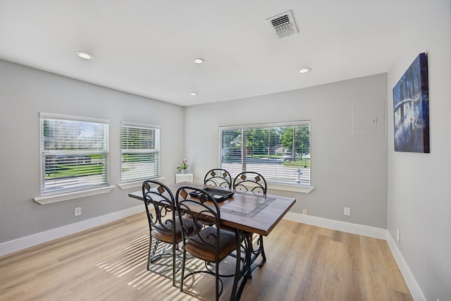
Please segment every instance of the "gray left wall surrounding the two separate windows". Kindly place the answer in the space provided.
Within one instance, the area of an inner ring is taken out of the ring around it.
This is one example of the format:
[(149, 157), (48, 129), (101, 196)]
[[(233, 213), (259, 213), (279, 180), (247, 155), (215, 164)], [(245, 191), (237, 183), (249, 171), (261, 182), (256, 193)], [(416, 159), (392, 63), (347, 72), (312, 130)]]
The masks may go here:
[[(0, 242), (140, 205), (118, 187), (56, 204), (34, 202), (40, 194), (39, 112), (110, 120), (110, 185), (121, 180), (121, 121), (161, 125), (161, 171), (175, 181), (183, 158), (182, 107), (0, 61)], [(75, 207), (82, 207), (82, 216), (74, 217)]]

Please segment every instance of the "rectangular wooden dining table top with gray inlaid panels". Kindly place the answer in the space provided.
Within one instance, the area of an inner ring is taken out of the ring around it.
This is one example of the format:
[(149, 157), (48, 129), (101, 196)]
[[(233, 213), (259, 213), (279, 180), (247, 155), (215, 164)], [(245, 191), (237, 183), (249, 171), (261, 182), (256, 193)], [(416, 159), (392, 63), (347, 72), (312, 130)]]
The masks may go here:
[[(183, 182), (168, 185), (168, 188), (175, 195), (178, 188), (183, 186), (214, 187)], [(128, 196), (143, 200), (142, 190), (130, 192)], [(218, 205), (221, 209), (221, 223), (224, 226), (267, 236), (295, 202), (296, 199), (292, 197), (235, 191), (233, 197), (218, 202)]]

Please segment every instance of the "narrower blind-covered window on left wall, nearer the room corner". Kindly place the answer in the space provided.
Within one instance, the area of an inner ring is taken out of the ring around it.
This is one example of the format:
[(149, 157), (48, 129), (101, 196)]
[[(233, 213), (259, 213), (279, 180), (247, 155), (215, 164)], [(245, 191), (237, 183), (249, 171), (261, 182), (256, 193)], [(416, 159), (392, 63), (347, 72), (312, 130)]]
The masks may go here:
[(121, 182), (160, 176), (160, 129), (156, 125), (121, 125)]

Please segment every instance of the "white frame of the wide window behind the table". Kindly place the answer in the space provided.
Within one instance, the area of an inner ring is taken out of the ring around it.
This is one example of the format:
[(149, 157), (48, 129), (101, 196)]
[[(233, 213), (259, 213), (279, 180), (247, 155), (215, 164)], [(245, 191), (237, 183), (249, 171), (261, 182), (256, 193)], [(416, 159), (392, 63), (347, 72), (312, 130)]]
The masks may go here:
[[(218, 166), (221, 168), (231, 168), (230, 165), (228, 166), (226, 159), (223, 159), (223, 143), (222, 143), (222, 133), (224, 130), (247, 130), (247, 129), (264, 129), (264, 128), (286, 128), (286, 127), (293, 127), (293, 126), (302, 126), (302, 125), (309, 125), (309, 128), (311, 129), (310, 121), (290, 121), (290, 122), (284, 122), (284, 123), (261, 123), (261, 124), (253, 124), (253, 125), (233, 125), (233, 126), (223, 126), (218, 128), (218, 143), (219, 143), (219, 159), (218, 159)], [(310, 142), (311, 142), (311, 131), (310, 131)], [(311, 143), (310, 143), (311, 147)], [(242, 149), (241, 149), (242, 152)], [(309, 161), (311, 160), (309, 154)], [(280, 164), (283, 164), (283, 161), (280, 161)], [(236, 165), (236, 164), (235, 164)], [(241, 168), (247, 169), (247, 171), (257, 171), (260, 172), (263, 176), (265, 176), (265, 171), (259, 169), (256, 166), (252, 166), (250, 168), (247, 167), (247, 165), (252, 165), (249, 163), (241, 162)], [(235, 166), (236, 169), (237, 166)], [(268, 166), (266, 166), (268, 168)], [(271, 167), (269, 167), (271, 168)], [(276, 166), (275, 166), (276, 168)], [(309, 164), (309, 168), (305, 169), (302, 168), (302, 172), (308, 173), (308, 183), (305, 183), (303, 181), (296, 182), (299, 178), (292, 180), (292, 181), (286, 181), (286, 180), (277, 180), (275, 174), (271, 175), (271, 171), (266, 170), (266, 172), (270, 172), (269, 175), (267, 175), (266, 182), (268, 183), (268, 188), (273, 190), (289, 190), (289, 191), (295, 191), (295, 192), (305, 192), (309, 193), (311, 190), (314, 190), (314, 188), (311, 186), (311, 178), (310, 178), (310, 168), (311, 168), (311, 161)], [(231, 168), (233, 169), (233, 168)], [(233, 173), (233, 177), (236, 176), (235, 173), (237, 171), (229, 170), (230, 173)], [(302, 175), (301, 175), (302, 176)]]

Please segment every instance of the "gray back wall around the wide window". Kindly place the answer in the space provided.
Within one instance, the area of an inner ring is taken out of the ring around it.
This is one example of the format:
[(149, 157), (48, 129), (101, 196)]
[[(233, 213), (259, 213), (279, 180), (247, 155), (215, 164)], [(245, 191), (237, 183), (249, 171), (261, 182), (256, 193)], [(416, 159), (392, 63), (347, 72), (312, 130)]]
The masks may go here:
[[(352, 104), (383, 106), (386, 82), (386, 74), (373, 75), (187, 107), (185, 149), (191, 171), (203, 180), (206, 171), (218, 166), (218, 126), (310, 120), (311, 185), (315, 189), (309, 194), (277, 193), (296, 197), (295, 213), (307, 209), (312, 216), (386, 228), (387, 135), (352, 136)], [(344, 207), (351, 208), (351, 216), (343, 215)]]

